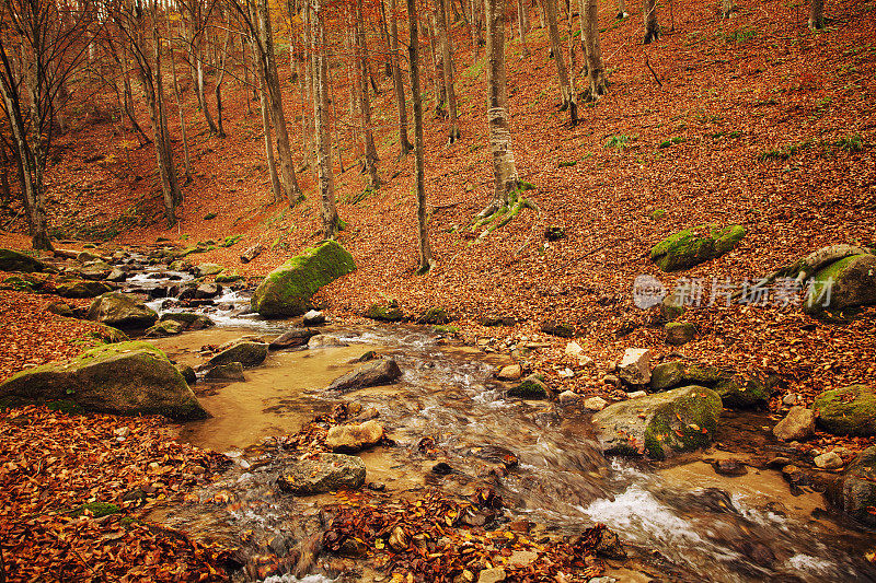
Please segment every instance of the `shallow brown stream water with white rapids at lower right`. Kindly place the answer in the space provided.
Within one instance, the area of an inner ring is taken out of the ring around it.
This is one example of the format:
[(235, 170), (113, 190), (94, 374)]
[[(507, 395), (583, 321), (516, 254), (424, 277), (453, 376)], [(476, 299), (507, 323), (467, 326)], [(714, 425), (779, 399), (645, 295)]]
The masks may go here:
[[(155, 281), (142, 277), (131, 287)], [(163, 302), (152, 305), (161, 310)], [(245, 294), (226, 293), (215, 306), (198, 308), (218, 323), (216, 328), (154, 342), (178, 362), (197, 364), (204, 361), (198, 354), (204, 345), (243, 334), (270, 338), (291, 326), (245, 314)], [(374, 407), (396, 442), (361, 454), (367, 481), (385, 485), (388, 492), (428, 483), (466, 493), (488, 474), (484, 447), (507, 448), (518, 456), (519, 467), (494, 479), (510, 520), (528, 518), (564, 533), (606, 523), (639, 567), (666, 580), (876, 581), (876, 570), (863, 558), (873, 547), (872, 535), (835, 522), (821, 510), (827, 508), (821, 494), (792, 495), (777, 471), (751, 468), (747, 476), (726, 478), (702, 462), (655, 468), (606, 459), (587, 413), (505, 398), (504, 387), (492, 378), (496, 357), (489, 361), (477, 350), (441, 343), (415, 327), (328, 326), (321, 331), (348, 346), (272, 352), (263, 365), (246, 371), (245, 382), (198, 383), (199, 399), (214, 418), (180, 431), (181, 439), (226, 452), (235, 464), (222, 482), (200, 492), (203, 503), (168, 506), (157, 517), (249, 546), (252, 564), (239, 574), (241, 581), (258, 579), (258, 557), (283, 557), (318, 533), (320, 504), (332, 499), (279, 494), (280, 459), (257, 444), (297, 431), (338, 400)], [(367, 350), (394, 358), (403, 371), (401, 382), (327, 394), (324, 387)], [(424, 438), (434, 440), (437, 454), (423, 453)], [(429, 470), (438, 462), (453, 471), (436, 477)]]

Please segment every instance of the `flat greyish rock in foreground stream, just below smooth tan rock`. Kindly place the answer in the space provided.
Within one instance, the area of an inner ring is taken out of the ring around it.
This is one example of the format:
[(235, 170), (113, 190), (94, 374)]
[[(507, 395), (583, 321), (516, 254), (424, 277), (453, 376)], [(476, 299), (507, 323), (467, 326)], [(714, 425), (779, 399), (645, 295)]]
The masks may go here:
[(344, 454), (316, 454), (288, 464), (277, 485), (285, 492), (310, 495), (332, 490), (361, 488), (365, 483), (365, 463)]

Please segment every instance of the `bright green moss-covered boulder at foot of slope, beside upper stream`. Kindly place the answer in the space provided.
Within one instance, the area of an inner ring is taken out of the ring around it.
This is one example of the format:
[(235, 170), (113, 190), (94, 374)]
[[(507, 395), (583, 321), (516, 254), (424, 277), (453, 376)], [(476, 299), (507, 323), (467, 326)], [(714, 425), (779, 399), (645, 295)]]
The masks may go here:
[(255, 290), (252, 308), (263, 316), (299, 316), (308, 311), (316, 290), (354, 269), (353, 256), (327, 241), (272, 271)]

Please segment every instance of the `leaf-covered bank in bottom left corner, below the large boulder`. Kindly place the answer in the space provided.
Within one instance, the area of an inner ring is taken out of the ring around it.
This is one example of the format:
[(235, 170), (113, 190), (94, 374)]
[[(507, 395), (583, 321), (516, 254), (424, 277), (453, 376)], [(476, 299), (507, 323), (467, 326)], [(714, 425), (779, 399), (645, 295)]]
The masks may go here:
[(0, 413), (7, 581), (224, 580), (226, 551), (137, 517), (226, 463), (170, 440), (158, 418)]

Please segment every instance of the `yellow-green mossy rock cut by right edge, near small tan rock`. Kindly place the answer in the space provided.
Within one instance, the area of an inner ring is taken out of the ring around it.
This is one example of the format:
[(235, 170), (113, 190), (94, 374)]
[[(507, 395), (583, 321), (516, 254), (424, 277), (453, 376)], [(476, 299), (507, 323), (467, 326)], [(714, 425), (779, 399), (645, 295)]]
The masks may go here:
[(866, 385), (826, 390), (812, 410), (818, 424), (835, 435), (876, 435), (876, 393)]

